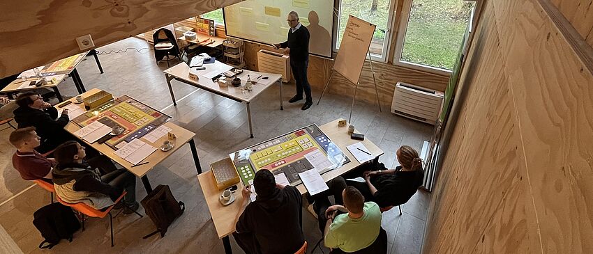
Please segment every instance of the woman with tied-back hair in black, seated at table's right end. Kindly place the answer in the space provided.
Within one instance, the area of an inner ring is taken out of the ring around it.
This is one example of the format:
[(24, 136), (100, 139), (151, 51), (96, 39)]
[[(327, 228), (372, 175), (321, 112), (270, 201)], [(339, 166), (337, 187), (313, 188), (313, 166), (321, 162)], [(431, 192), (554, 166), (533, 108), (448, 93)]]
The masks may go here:
[(366, 200), (373, 201), (383, 211), (410, 200), (424, 179), (422, 159), (418, 152), (408, 145), (402, 145), (396, 152), (401, 166), (389, 170), (366, 171), (366, 182), (348, 181), (348, 185), (359, 189)]

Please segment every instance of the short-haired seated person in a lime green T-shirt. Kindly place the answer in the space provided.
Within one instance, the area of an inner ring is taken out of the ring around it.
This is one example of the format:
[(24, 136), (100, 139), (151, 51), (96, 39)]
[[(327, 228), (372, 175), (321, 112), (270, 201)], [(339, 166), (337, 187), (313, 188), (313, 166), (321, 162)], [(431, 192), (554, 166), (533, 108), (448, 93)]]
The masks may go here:
[[(324, 243), (333, 248), (331, 253), (352, 253), (371, 246), (379, 236), (382, 214), (374, 202), (364, 197), (353, 186), (342, 192), (344, 205), (332, 205), (326, 210)], [(344, 212), (339, 214), (336, 212)]]

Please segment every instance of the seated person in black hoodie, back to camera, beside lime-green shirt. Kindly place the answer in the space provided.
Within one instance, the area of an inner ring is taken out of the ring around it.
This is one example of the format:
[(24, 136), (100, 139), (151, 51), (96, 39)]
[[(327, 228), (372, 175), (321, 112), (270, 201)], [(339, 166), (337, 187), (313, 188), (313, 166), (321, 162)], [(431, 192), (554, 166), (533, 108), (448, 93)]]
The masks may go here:
[(246, 253), (295, 253), (305, 243), (301, 193), (293, 186), (276, 184), (267, 169), (255, 173), (253, 185), (257, 193), (253, 203), (249, 186), (241, 191), (235, 241)]

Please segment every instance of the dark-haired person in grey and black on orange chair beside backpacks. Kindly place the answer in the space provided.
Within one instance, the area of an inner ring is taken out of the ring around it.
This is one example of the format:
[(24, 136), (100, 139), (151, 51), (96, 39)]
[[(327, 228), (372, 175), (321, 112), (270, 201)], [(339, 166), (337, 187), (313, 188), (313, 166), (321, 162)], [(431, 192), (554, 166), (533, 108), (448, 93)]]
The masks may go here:
[[(87, 154), (84, 146), (76, 141), (67, 141), (54, 151), (58, 165), (52, 170), (56, 195), (67, 203), (85, 203), (95, 209), (114, 204), (127, 191), (123, 203), (126, 207), (138, 209), (136, 202), (136, 177), (123, 168), (99, 176), (96, 168), (82, 164)], [(126, 209), (124, 214), (133, 211)]]

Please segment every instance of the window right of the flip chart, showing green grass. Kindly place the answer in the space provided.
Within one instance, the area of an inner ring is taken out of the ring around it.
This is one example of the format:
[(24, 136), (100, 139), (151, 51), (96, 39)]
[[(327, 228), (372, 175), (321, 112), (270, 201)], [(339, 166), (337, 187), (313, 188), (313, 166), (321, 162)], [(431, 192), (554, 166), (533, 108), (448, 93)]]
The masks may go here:
[(451, 72), (474, 5), (463, 0), (405, 0), (393, 63)]

